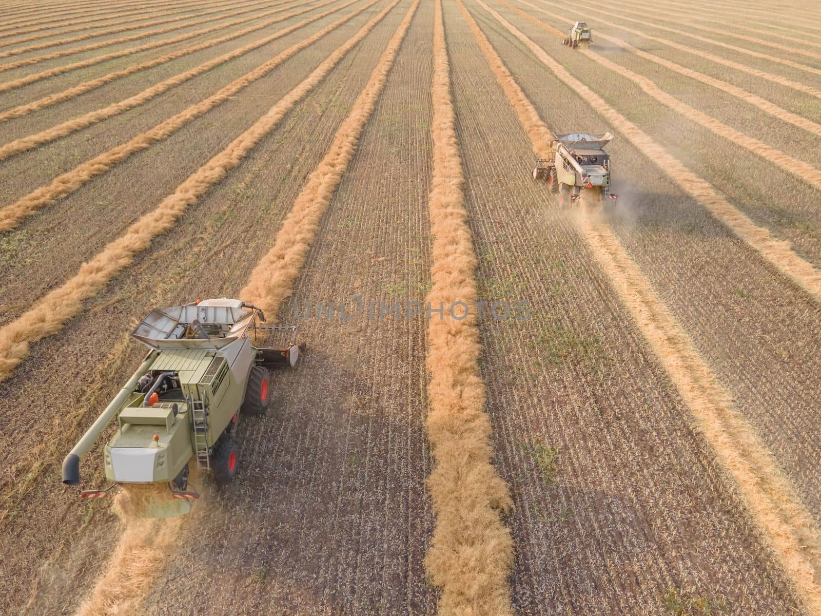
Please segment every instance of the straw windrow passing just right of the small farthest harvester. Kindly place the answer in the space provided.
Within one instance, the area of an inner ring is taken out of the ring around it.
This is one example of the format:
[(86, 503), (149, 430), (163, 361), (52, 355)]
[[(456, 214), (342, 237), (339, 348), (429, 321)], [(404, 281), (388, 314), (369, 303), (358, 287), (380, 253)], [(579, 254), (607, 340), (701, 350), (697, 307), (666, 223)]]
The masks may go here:
[[(559, 21), (564, 21), (568, 24), (574, 23), (573, 21), (566, 19), (566, 17), (564, 16), (558, 15), (557, 13), (553, 13), (551, 11), (546, 11), (543, 8), (537, 7), (532, 2), (527, 2), (527, 0), (519, 0), (519, 2), (527, 7), (530, 7), (534, 11), (544, 13), (545, 15), (551, 16)], [(510, 7), (514, 11), (516, 10), (516, 7), (512, 7), (508, 2), (502, 2), (502, 4), (504, 4), (507, 7)], [(564, 33), (562, 33), (562, 36), (564, 36)], [(694, 71), (690, 68), (682, 67), (681, 64), (671, 62), (670, 60), (667, 60), (664, 57), (656, 56), (653, 53), (647, 53), (644, 50), (636, 48), (633, 45), (626, 43), (626, 41), (617, 39), (614, 36), (609, 36), (608, 34), (597, 32), (596, 38), (610, 41), (612, 44), (616, 44), (622, 49), (626, 49), (630, 53), (634, 53), (639, 57), (643, 57), (645, 60), (654, 62), (662, 67), (670, 69), (671, 71), (677, 72), (680, 75), (690, 77), (690, 79), (695, 79), (707, 85), (712, 85), (713, 88), (716, 88), (717, 90), (721, 90), (722, 92), (731, 94), (732, 96), (735, 96), (737, 99), (743, 100), (745, 103), (750, 103), (751, 105), (754, 105), (754, 107), (761, 109), (762, 111), (764, 111), (764, 113), (768, 113), (773, 117), (777, 117), (779, 120), (782, 120), (784, 122), (789, 122), (793, 126), (798, 126), (799, 128), (802, 128), (805, 131), (813, 133), (814, 135), (821, 136), (821, 124), (813, 122), (812, 120), (809, 120), (806, 117), (801, 117), (797, 113), (792, 113), (787, 111), (786, 109), (782, 109), (778, 107), (775, 103), (771, 103), (768, 100), (762, 99), (757, 94), (753, 94), (751, 92), (748, 92), (747, 90), (743, 90), (742, 88), (739, 88), (736, 85), (727, 83), (727, 81), (718, 80), (715, 77), (704, 75), (704, 73), (700, 73), (699, 71)], [(0, 119), (2, 119), (2, 116), (0, 116)]]

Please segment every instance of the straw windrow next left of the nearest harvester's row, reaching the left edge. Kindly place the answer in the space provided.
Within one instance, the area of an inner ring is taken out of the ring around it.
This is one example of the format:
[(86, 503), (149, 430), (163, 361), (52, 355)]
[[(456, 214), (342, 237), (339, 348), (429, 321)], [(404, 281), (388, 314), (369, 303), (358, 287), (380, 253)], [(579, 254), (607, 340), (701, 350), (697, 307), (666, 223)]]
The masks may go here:
[(305, 80), (268, 109), (253, 126), (187, 177), (156, 209), (132, 224), (125, 235), (109, 243), (94, 259), (82, 264), (74, 277), (49, 292), (34, 308), (0, 328), (0, 382), (7, 379), (15, 367), (29, 355), (29, 345), (32, 342), (57, 333), (69, 319), (80, 314), (85, 299), (105, 287), (109, 280), (131, 264), (135, 255), (151, 245), (154, 237), (172, 228), (190, 205), (194, 205), (211, 186), (239, 165), (259, 140), (273, 131), (285, 114), (328, 75), (391, 7), (374, 16)]

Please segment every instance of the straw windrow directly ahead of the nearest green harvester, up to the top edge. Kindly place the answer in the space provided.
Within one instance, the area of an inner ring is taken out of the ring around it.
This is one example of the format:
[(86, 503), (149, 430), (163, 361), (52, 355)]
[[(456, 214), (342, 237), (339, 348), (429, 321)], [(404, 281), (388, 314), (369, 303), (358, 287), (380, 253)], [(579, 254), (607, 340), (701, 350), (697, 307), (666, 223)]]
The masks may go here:
[[(397, 57), (417, 7), (419, 0), (414, 0), (370, 74), (365, 89), (356, 99), (350, 115), (342, 122), (342, 126), (333, 137), (328, 154), (325, 154), (317, 168), (311, 172), (305, 187), (294, 200), (291, 212), (277, 232), (277, 239), (271, 250), (259, 260), (250, 274), (248, 284), (240, 292), (240, 297), (259, 306), (266, 314), (276, 315), (282, 301), (291, 294), (293, 283), (302, 264), (305, 263), (322, 215), (328, 209), (333, 193), (342, 180), (342, 174), (356, 152), (362, 130), (374, 111), (379, 94), (382, 94), (388, 73), (393, 67), (393, 61)], [(317, 68), (317, 71), (322, 68)]]

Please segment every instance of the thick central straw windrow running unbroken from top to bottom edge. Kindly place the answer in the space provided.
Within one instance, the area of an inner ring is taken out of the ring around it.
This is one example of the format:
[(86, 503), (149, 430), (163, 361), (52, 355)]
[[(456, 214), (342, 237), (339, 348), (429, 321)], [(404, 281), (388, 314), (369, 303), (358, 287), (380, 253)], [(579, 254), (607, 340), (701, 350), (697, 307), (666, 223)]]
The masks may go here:
[(513, 566), (513, 541), (502, 523), (502, 510), (511, 507), (511, 498), (491, 462), (477, 317), (470, 310), (465, 319), (454, 319), (447, 310), (457, 301), (474, 306), (479, 298), (441, 0), (436, 0), (435, 11), (429, 195), (433, 287), (427, 301), (446, 306), (448, 314), (430, 319), (428, 329), (430, 410), (426, 428), (435, 461), (428, 487), (436, 525), (425, 565), (431, 582), (442, 589), (441, 616), (504, 616), (513, 613), (507, 582)]

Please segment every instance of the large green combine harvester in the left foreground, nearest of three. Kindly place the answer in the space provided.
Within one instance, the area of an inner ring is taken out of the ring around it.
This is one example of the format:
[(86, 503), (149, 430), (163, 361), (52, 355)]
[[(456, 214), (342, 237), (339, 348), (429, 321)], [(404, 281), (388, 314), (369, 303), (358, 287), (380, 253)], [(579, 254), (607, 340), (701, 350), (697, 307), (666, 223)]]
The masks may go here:
[[(236, 476), (239, 414), (265, 415), (271, 399), (268, 368), (296, 364), (296, 327), (264, 324), (261, 310), (240, 300), (212, 299), (152, 310), (131, 336), (151, 351), (120, 393), (94, 421), (62, 464), (62, 482), (80, 484), (80, 456), (118, 416), (117, 432), (105, 446), (105, 490), (114, 485), (167, 485), (174, 498), (157, 498), (144, 517), (189, 513), (189, 461), (210, 470), (218, 483)], [(257, 346), (287, 336), (282, 347)], [(162, 494), (162, 490), (159, 491)]]

